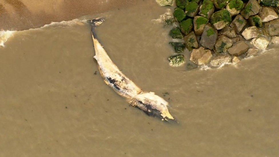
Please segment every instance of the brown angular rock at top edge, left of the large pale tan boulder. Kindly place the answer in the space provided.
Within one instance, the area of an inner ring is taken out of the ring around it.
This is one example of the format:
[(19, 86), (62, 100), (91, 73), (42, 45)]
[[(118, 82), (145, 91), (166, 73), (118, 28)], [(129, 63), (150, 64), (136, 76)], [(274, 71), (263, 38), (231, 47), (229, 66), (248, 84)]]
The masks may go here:
[(260, 4), (256, 0), (249, 0), (245, 8), (241, 11), (241, 15), (248, 19), (252, 15), (256, 15), (260, 11)]

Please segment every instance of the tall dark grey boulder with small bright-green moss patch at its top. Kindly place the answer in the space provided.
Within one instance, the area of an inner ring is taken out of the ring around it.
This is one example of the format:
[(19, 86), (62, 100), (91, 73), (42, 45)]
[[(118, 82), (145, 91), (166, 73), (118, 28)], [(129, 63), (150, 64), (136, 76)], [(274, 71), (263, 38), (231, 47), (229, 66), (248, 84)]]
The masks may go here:
[(217, 30), (211, 27), (210, 25), (206, 25), (204, 27), (204, 32), (202, 33), (200, 43), (203, 47), (213, 49), (217, 37), (218, 37)]

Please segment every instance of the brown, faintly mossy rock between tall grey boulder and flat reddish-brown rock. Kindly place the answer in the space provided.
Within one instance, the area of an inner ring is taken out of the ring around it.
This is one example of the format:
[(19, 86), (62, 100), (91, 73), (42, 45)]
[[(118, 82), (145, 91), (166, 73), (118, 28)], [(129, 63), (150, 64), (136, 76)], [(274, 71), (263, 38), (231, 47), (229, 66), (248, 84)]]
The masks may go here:
[(225, 35), (220, 35), (219, 39), (216, 41), (214, 50), (216, 53), (225, 53), (230, 47), (232, 47), (232, 40)]

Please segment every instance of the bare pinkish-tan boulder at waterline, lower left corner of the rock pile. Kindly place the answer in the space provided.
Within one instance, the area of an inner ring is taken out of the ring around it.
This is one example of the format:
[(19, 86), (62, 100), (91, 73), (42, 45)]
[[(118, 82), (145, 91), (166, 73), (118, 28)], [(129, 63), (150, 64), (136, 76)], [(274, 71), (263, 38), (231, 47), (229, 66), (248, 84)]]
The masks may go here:
[(193, 49), (190, 61), (198, 65), (204, 65), (210, 61), (211, 57), (212, 54), (209, 49), (204, 49), (204, 47), (200, 47), (199, 49)]

